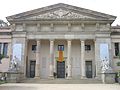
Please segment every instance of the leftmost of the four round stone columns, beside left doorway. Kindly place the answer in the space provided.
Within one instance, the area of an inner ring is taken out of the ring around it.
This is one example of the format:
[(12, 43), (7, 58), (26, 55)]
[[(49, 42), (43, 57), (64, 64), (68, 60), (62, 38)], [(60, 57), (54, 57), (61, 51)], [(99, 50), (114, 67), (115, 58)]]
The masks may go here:
[(35, 78), (40, 78), (40, 40), (37, 40), (36, 46), (36, 66), (35, 66)]

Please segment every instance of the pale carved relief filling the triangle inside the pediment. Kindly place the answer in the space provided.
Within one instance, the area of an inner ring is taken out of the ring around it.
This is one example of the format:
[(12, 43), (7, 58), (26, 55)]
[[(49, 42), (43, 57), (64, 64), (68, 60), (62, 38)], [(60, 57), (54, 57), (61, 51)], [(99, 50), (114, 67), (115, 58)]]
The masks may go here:
[(38, 16), (29, 17), (28, 19), (95, 19), (93, 17), (81, 15), (71, 11), (59, 9), (57, 11), (48, 12)]

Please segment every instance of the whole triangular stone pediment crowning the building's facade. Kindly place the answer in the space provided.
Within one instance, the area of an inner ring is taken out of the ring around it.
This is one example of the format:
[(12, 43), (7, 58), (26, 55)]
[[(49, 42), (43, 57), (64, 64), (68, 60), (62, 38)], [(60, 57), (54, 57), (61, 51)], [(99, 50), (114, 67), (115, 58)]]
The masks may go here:
[(7, 17), (8, 21), (14, 20), (54, 20), (54, 19), (92, 19), (92, 20), (115, 20), (115, 16), (75, 7), (63, 3), (27, 11)]

